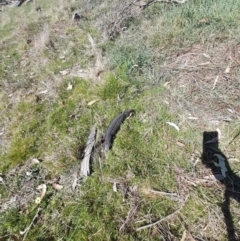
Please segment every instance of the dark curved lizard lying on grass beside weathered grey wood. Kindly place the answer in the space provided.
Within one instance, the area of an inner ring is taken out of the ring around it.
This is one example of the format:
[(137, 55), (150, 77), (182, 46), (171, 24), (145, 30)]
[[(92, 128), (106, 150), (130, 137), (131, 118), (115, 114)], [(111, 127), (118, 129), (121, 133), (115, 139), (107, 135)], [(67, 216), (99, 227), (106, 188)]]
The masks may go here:
[(135, 110), (125, 110), (117, 117), (115, 117), (107, 128), (104, 137), (104, 150), (109, 151), (112, 148), (113, 140), (119, 131), (121, 124), (131, 115), (135, 113)]

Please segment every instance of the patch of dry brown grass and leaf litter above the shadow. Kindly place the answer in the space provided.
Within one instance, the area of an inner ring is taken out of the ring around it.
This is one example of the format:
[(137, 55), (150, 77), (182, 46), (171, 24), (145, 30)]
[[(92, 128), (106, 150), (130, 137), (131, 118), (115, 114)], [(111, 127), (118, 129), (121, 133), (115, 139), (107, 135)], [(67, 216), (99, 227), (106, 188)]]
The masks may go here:
[(172, 72), (171, 96), (182, 112), (203, 121), (239, 117), (239, 44), (195, 45), (163, 66)]

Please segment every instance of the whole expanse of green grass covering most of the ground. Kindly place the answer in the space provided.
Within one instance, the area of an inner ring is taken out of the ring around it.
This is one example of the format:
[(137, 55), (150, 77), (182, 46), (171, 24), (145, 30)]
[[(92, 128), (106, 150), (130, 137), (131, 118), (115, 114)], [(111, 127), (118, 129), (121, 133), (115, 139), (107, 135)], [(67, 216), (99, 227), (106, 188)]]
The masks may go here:
[[(151, 190), (176, 193), (181, 198), (189, 194), (183, 209), (163, 223), (168, 225), (169, 232), (177, 240), (186, 228), (194, 237), (224, 240), (225, 224), (219, 222), (219, 230), (214, 230), (216, 225), (209, 216), (211, 213), (220, 220), (220, 190), (186, 181), (192, 178), (190, 182), (194, 182), (205, 171), (200, 162), (193, 163), (201, 155), (202, 132), (206, 126), (184, 119), (184, 111), (175, 111), (174, 101), (180, 90), (172, 93), (171, 88), (174, 89), (179, 79), (175, 70), (168, 71), (162, 66), (172, 53), (177, 56), (179, 50), (187, 51), (194, 44), (211, 46), (237, 40), (239, 3), (233, 0), (189, 1), (179, 5), (155, 3), (127, 21), (128, 29), (110, 41), (105, 38), (104, 26), (98, 25), (104, 23), (104, 14), (111, 11), (107, 2), (96, 6), (93, 2), (83, 5), (86, 2), (42, 0), (36, 6), (29, 3), (4, 10), (8, 18), (0, 25), (3, 36), (0, 40), (3, 56), (0, 174), (4, 180), (0, 183), (1, 205), (13, 193), (22, 200), (27, 198), (24, 187), (33, 179), (32, 192), (39, 184), (48, 183), (47, 194), (26, 240), (165, 240), (166, 237), (161, 239), (160, 226), (136, 231), (180, 207), (180, 199), (155, 195)], [(43, 11), (36, 12), (37, 6)], [(71, 15), (80, 7), (87, 10), (87, 19), (72, 23)], [(19, 19), (24, 23), (21, 28)], [(26, 40), (39, 36), (45, 24), (49, 25), (53, 46), (47, 45), (36, 52)], [(88, 71), (95, 65), (88, 33), (106, 59), (101, 80), (62, 75), (62, 70), (77, 67)], [(166, 82), (172, 85), (166, 87)], [(228, 96), (225, 101), (234, 103), (238, 97), (234, 98)], [(102, 134), (110, 121), (125, 109), (135, 109), (136, 114), (124, 122), (112, 150), (101, 154), (98, 146)], [(180, 130), (168, 125), (169, 121)], [(81, 186), (74, 192), (72, 175), (80, 165), (76, 152), (85, 146), (95, 123), (98, 132), (94, 172), (87, 179), (78, 180)], [(229, 151), (236, 155), (237, 120), (226, 130), (228, 135), (223, 135), (224, 138), (236, 136)], [(229, 147), (224, 147), (228, 151)], [(41, 163), (29, 167), (33, 158)], [(23, 170), (10, 175), (9, 171), (17, 165)], [(237, 164), (233, 166), (237, 169)], [(38, 174), (26, 176), (26, 171), (32, 170)], [(55, 190), (49, 184), (51, 180), (60, 180), (63, 189)], [(117, 192), (109, 180), (118, 182)], [(136, 192), (131, 191), (134, 187)], [(34, 198), (38, 195), (34, 193)], [(19, 231), (31, 223), (37, 210), (34, 198), (26, 199), (28, 203), (24, 207), (1, 213), (0, 239), (7, 235), (19, 237)], [(136, 213), (120, 232), (134, 205), (139, 205)], [(207, 227), (205, 233), (204, 227)]]

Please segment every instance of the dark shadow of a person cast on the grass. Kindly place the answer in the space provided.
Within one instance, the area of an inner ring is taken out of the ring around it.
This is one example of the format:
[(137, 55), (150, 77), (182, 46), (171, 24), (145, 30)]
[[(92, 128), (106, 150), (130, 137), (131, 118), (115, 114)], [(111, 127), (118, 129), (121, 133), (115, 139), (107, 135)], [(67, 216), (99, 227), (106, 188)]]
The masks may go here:
[(227, 228), (228, 241), (239, 241), (240, 231), (234, 227), (230, 212), (230, 198), (240, 202), (240, 177), (231, 169), (226, 156), (218, 145), (218, 132), (203, 132), (202, 163), (210, 168), (215, 178), (225, 186), (222, 212)]

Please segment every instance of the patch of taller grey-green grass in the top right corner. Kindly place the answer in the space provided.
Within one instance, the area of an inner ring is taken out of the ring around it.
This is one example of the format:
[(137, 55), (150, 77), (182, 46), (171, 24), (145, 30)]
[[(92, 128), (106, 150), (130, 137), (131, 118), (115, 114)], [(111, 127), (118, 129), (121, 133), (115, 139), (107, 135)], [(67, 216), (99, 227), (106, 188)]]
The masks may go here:
[(196, 1), (169, 6), (154, 4), (146, 15), (152, 21), (148, 30), (151, 46), (185, 47), (194, 43), (237, 38), (240, 17), (235, 1)]

